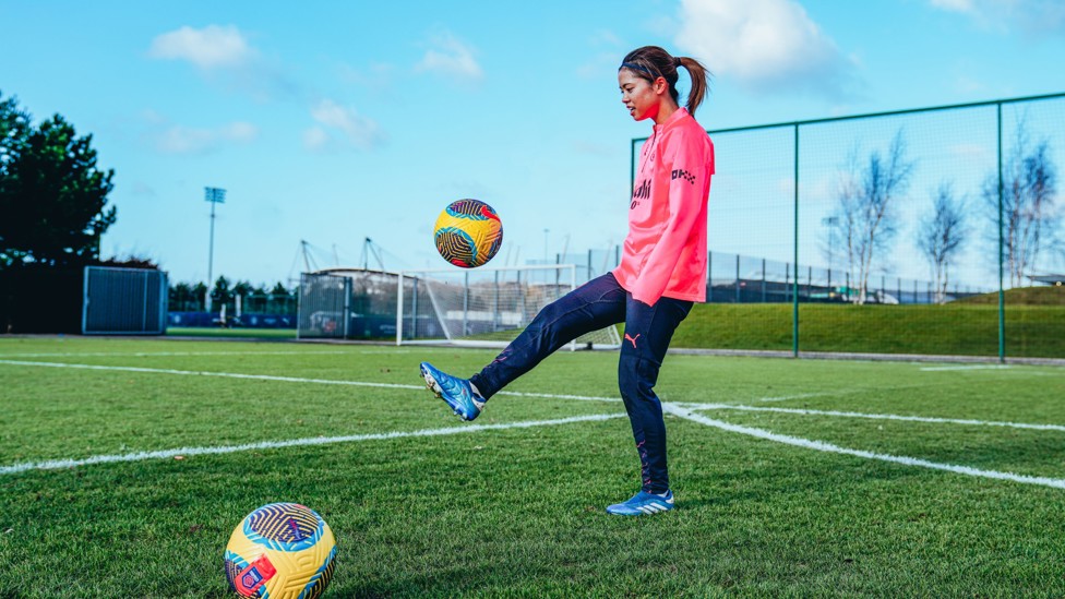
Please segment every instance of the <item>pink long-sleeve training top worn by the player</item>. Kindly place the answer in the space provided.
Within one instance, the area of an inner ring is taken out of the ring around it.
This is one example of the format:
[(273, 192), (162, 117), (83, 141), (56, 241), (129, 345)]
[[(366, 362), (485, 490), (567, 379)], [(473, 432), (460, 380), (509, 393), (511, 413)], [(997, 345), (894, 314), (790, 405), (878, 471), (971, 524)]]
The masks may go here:
[(680, 108), (644, 142), (629, 206), (629, 237), (613, 271), (633, 298), (706, 301), (706, 207), (714, 143)]

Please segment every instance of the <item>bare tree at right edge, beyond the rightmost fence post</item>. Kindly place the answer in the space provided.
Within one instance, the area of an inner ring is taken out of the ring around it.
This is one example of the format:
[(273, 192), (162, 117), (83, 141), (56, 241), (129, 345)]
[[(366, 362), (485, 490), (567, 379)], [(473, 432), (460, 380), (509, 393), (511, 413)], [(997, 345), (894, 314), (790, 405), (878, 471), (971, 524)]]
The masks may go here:
[[(998, 224), (998, 176), (983, 185), (983, 197), (992, 223)], [(1013, 152), (1003, 165), (1002, 248), (1009, 286), (1020, 286), (1044, 251), (1062, 251), (1062, 215), (1057, 209), (1057, 169), (1051, 159), (1050, 142), (1032, 147), (1028, 127), (1021, 121)], [(989, 238), (998, 242), (998, 229)]]

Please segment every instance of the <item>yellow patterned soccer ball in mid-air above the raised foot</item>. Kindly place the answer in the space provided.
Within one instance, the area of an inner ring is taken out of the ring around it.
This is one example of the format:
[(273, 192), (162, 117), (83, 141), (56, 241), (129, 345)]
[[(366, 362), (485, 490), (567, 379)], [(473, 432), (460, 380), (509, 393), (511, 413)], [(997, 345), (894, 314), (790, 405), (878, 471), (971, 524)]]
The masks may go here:
[(484, 202), (452, 202), (433, 227), (436, 251), (447, 262), (463, 268), (486, 264), (503, 244), (503, 224)]

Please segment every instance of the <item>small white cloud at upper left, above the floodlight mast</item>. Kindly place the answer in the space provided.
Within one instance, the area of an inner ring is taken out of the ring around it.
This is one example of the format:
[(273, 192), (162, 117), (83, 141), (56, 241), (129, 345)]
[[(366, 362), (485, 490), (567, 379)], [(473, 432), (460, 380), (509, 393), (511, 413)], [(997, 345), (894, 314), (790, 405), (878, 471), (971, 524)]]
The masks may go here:
[(156, 36), (148, 48), (152, 58), (186, 60), (204, 70), (240, 67), (256, 55), (232, 25), (207, 25), (202, 29), (184, 26)]

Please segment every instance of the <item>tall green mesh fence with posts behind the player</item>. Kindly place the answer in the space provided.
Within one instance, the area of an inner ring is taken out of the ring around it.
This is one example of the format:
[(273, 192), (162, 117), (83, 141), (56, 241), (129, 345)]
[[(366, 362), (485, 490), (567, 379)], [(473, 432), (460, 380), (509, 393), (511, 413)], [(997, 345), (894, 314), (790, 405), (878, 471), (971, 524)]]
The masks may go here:
[(795, 355), (1065, 358), (1065, 289), (1036, 283), (1065, 273), (1065, 94), (709, 133), (708, 301), (790, 304), (737, 326)]

